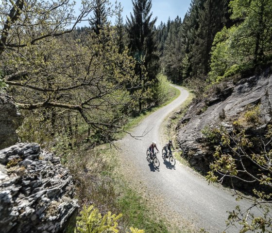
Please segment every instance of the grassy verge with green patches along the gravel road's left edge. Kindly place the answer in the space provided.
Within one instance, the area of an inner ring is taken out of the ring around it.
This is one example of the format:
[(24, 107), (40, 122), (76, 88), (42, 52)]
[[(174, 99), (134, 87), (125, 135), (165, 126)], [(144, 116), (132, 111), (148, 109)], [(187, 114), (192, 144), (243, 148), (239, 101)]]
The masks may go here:
[[(171, 93), (173, 96), (167, 103), (143, 112), (139, 117), (131, 119), (127, 126), (131, 128), (140, 124), (145, 117), (178, 97), (180, 91), (171, 87)], [(124, 135), (125, 133), (120, 133), (117, 136), (122, 138)], [(170, 219), (158, 215), (159, 202), (154, 203), (154, 198), (145, 197), (139, 185), (135, 188), (135, 185), (128, 183), (128, 179), (120, 169), (119, 151), (111, 144), (99, 145), (94, 151), (86, 150), (86, 153), (82, 150), (78, 154), (79, 157), (74, 158), (74, 164), (71, 163), (70, 167), (72, 166), (74, 173), (79, 174), (77, 177), (79, 183), (83, 183), (78, 188), (78, 193), (81, 193), (81, 196), (85, 198), (81, 203), (84, 205), (94, 204), (101, 213), (106, 213), (108, 210), (115, 214), (122, 213), (123, 216), (119, 222), (121, 233), (128, 232), (130, 227), (143, 229), (145, 233), (192, 232), (186, 227), (181, 232), (176, 225), (178, 221), (173, 223), (173, 221), (170, 222)], [(87, 156), (88, 158), (86, 158)], [(78, 169), (83, 170), (85, 167), (89, 168), (89, 175), (83, 174), (84, 176), (82, 176), (82, 172), (80, 173)]]

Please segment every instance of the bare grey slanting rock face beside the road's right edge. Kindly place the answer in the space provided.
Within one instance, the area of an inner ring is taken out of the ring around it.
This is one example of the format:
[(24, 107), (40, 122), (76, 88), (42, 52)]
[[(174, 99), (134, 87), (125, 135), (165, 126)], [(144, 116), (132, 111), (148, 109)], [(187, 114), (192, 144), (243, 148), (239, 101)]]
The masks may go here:
[[(272, 120), (272, 69), (228, 83), (219, 94), (205, 102), (193, 104), (179, 123), (178, 142), (191, 165), (208, 166), (209, 159), (203, 146), (202, 130), (205, 126), (224, 125), (231, 130), (233, 121), (249, 106), (259, 104), (261, 132)], [(204, 165), (205, 164), (205, 165)]]

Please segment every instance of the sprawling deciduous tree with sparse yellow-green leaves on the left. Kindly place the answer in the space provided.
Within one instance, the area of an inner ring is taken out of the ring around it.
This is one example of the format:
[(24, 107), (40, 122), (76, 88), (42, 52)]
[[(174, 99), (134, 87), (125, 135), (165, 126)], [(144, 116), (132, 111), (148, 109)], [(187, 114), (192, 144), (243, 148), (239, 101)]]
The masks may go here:
[[(68, 133), (71, 117), (81, 116), (106, 138), (134, 102), (128, 90), (135, 86), (135, 64), (118, 53), (109, 28), (84, 44), (71, 35), (78, 22), (90, 19), (94, 3), (84, 2), (77, 18), (68, 1), (17, 0), (1, 7), (0, 70), (18, 108), (53, 109), (53, 116), (67, 117)], [(67, 114), (55, 114), (61, 111)]]

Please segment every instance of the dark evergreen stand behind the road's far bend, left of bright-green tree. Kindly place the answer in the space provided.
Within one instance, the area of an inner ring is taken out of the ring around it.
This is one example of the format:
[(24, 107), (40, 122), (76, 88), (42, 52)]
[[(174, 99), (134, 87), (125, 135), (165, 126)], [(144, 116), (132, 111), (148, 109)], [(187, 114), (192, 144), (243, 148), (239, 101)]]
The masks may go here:
[(213, 39), (223, 26), (232, 25), (229, 1), (192, 0), (183, 21), (176, 17), (165, 27), (159, 25), (156, 40), (160, 65), (173, 82), (206, 79)]

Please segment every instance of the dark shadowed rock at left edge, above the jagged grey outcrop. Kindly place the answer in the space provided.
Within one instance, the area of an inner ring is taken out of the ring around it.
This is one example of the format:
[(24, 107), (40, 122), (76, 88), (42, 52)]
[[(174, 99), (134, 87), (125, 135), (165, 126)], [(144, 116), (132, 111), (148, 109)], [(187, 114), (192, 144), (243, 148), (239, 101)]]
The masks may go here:
[(22, 117), (11, 98), (0, 93), (0, 149), (17, 143), (16, 129), (21, 122)]

